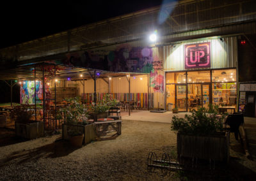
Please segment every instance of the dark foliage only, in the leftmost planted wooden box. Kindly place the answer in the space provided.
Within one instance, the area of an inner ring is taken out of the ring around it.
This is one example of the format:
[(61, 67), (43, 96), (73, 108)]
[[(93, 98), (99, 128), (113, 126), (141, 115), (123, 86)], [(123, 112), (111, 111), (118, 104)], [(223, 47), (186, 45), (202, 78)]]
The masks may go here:
[(13, 106), (12, 118), (15, 122), (27, 123), (32, 118), (34, 109), (30, 105)]

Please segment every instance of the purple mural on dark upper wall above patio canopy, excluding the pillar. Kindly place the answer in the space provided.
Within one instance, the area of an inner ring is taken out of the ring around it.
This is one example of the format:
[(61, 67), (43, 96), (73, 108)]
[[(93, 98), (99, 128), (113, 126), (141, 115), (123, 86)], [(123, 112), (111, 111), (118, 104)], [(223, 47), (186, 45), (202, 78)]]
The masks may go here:
[(152, 69), (152, 48), (133, 47), (129, 43), (108, 49), (84, 50), (67, 54), (62, 64), (106, 71), (150, 73)]

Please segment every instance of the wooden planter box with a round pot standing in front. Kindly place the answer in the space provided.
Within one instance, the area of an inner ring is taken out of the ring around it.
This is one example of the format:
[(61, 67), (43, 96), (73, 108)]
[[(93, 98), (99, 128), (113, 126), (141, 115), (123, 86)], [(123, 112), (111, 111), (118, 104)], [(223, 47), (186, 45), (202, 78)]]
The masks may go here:
[(86, 126), (79, 124), (62, 124), (63, 140), (70, 140), (71, 136), (68, 135), (68, 129), (76, 129), (77, 131), (81, 131), (81, 133), (84, 133), (83, 145), (95, 140), (94, 124), (88, 124)]

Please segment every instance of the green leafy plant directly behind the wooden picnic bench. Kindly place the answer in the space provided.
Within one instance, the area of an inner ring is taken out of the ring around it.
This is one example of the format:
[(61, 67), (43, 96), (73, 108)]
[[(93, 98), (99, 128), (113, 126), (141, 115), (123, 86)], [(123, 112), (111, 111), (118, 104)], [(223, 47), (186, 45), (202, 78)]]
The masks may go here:
[(106, 112), (109, 110), (109, 108), (115, 107), (117, 104), (118, 102), (116, 99), (111, 99), (110, 95), (106, 94), (102, 101), (90, 107), (90, 116), (94, 121), (97, 121), (99, 118), (105, 118)]

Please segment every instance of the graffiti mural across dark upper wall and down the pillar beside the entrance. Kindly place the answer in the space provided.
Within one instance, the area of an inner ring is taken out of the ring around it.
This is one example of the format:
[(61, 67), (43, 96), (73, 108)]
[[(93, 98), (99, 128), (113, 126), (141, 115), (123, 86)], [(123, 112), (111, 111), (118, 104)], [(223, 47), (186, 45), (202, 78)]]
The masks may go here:
[(164, 76), (160, 73), (163, 72), (163, 60), (159, 59), (159, 53), (153, 53), (157, 50), (156, 47), (124, 43), (67, 54), (58, 63), (106, 71), (150, 73), (150, 86), (154, 92), (164, 92)]

